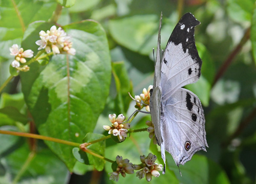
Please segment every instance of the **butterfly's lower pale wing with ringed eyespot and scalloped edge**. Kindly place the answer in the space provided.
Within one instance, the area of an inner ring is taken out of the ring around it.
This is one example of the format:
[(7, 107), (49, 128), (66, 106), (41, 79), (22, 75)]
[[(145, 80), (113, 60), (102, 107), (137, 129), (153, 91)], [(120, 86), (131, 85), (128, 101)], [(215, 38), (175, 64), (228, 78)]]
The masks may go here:
[(199, 98), (179, 88), (162, 105), (162, 144), (176, 164), (186, 163), (199, 150), (206, 151), (205, 119)]

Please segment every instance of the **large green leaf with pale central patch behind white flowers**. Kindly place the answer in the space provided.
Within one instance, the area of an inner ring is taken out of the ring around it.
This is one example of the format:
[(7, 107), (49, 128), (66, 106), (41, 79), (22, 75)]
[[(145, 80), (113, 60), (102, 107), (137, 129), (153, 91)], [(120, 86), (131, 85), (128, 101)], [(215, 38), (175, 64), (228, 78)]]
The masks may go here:
[[(76, 55), (55, 55), (46, 66), (34, 62), (20, 77), (40, 134), (82, 143), (82, 137), (93, 131), (109, 94), (109, 48), (104, 30), (95, 21), (64, 29), (72, 37)], [(47, 145), (72, 171), (73, 148), (53, 142)]]

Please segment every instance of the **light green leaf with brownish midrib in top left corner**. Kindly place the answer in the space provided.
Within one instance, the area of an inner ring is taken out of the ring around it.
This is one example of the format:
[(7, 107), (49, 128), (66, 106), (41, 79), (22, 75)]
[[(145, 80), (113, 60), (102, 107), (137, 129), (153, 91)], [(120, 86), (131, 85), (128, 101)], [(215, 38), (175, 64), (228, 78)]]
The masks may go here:
[(54, 0), (43, 1), (1, 1), (0, 2), (0, 47), (1, 56), (10, 56), (9, 48), (20, 45), (27, 26), (36, 20), (48, 20), (57, 3)]

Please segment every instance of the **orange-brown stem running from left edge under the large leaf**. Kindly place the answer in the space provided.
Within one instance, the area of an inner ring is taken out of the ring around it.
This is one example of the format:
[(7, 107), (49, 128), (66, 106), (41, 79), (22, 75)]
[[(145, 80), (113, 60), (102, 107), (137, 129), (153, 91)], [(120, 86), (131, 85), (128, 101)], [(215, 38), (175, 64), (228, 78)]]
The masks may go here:
[(40, 140), (45, 140), (45, 141), (52, 141), (55, 143), (66, 144), (66, 145), (70, 145), (70, 146), (74, 146), (74, 147), (80, 146), (80, 143), (74, 143), (74, 142), (70, 142), (70, 141), (60, 140), (60, 139), (56, 139), (53, 137), (37, 135), (37, 134), (33, 134), (33, 133), (15, 132), (15, 131), (7, 131), (7, 130), (0, 130), (0, 133), (16, 135), (16, 136), (23, 136), (23, 137), (30, 137), (30, 138), (40, 139)]

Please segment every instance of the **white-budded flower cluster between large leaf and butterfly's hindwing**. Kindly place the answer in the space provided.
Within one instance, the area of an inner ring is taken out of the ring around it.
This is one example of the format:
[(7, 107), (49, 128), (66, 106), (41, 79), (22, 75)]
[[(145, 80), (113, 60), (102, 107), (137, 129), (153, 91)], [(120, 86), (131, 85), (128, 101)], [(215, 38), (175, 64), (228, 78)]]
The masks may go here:
[(127, 137), (127, 129), (131, 126), (130, 123), (123, 123), (125, 120), (123, 114), (119, 114), (117, 118), (116, 114), (109, 114), (109, 120), (112, 123), (112, 126), (104, 125), (103, 129), (109, 131), (109, 134), (118, 136), (120, 142), (124, 141), (125, 137)]

